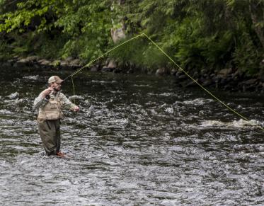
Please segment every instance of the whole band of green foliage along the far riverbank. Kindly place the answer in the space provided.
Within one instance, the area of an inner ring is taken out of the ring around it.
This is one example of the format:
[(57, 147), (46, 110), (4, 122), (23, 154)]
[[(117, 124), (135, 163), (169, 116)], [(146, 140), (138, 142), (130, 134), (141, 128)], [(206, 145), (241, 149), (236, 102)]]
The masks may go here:
[[(89, 62), (114, 46), (111, 28), (127, 38), (147, 33), (185, 69), (260, 70), (263, 0), (0, 0), (0, 53)], [(3, 55), (2, 55), (3, 56)], [(173, 67), (139, 38), (110, 53), (120, 64)]]

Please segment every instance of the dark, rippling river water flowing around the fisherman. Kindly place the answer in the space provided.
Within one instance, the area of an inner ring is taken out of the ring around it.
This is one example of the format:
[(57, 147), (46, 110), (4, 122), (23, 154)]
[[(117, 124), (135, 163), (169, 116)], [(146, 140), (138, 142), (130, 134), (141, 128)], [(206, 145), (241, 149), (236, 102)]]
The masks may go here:
[[(1, 205), (263, 205), (263, 130), (172, 77), (81, 73), (63, 92), (62, 151), (46, 156), (33, 101), (47, 78), (0, 71)], [(215, 93), (264, 126), (263, 94)]]

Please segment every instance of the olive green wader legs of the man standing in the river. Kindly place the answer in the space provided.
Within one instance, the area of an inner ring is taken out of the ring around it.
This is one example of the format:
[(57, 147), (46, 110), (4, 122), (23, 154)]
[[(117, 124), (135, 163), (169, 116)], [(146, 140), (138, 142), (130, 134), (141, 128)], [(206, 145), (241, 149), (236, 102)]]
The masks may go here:
[(60, 149), (59, 120), (40, 120), (38, 130), (47, 155), (57, 154)]

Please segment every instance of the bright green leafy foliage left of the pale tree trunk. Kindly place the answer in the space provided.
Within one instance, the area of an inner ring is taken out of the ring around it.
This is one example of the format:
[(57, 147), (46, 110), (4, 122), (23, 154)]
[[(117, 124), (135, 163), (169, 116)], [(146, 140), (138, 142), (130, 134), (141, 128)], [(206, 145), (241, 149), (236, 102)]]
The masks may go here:
[[(110, 42), (111, 18), (108, 1), (21, 1), (17, 9), (0, 15), (0, 32), (20, 33), (14, 52), (34, 52), (43, 57), (81, 57), (102, 54)], [(34, 33), (34, 37), (27, 35)], [(27, 48), (27, 41), (35, 42)], [(21, 45), (25, 44), (24, 47)]]

